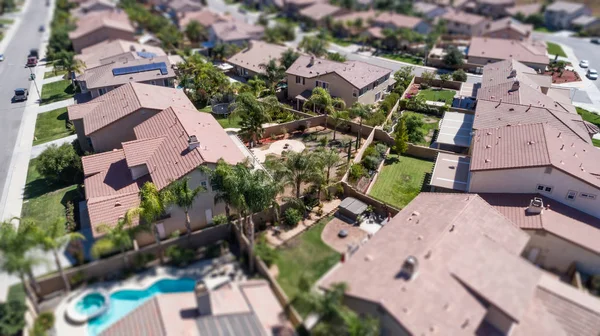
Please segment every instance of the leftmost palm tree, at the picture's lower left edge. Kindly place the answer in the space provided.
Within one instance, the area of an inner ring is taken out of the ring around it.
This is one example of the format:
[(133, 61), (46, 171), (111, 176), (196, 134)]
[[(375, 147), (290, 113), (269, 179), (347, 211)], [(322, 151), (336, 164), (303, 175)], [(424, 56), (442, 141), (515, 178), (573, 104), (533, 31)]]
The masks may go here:
[(27, 253), (35, 245), (34, 230), (33, 223), (28, 221), (21, 221), (18, 229), (10, 222), (0, 223), (0, 269), (19, 277), (25, 294), (35, 311), (39, 312), (37, 297), (26, 279), (27, 274), (31, 274), (31, 269), (40, 263), (38, 258)]

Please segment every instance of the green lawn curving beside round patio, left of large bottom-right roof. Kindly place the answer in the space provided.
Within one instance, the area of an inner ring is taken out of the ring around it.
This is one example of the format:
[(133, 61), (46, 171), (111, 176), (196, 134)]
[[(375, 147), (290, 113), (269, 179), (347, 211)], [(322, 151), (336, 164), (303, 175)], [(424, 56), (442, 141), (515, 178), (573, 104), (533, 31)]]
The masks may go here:
[(277, 282), (302, 315), (308, 311), (298, 304), (298, 280), (304, 276), (313, 285), (340, 260), (340, 254), (321, 240), (321, 232), (333, 217), (321, 219), (313, 227), (279, 249)]

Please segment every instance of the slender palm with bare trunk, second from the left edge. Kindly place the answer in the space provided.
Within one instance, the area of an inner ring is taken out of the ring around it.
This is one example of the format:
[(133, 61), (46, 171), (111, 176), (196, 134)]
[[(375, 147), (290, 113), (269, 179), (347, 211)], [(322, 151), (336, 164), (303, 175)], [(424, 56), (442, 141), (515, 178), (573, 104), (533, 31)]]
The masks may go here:
[(44, 227), (44, 229), (36, 227), (35, 233), (37, 235), (37, 241), (42, 249), (44, 251), (52, 252), (52, 255), (54, 256), (54, 262), (56, 263), (56, 268), (63, 279), (65, 289), (67, 293), (70, 292), (71, 285), (69, 284), (69, 279), (67, 279), (62, 265), (60, 264), (58, 250), (61, 246), (71, 240), (85, 239), (85, 237), (79, 232), (67, 233), (65, 230), (65, 224), (61, 220), (55, 220), (49, 226)]

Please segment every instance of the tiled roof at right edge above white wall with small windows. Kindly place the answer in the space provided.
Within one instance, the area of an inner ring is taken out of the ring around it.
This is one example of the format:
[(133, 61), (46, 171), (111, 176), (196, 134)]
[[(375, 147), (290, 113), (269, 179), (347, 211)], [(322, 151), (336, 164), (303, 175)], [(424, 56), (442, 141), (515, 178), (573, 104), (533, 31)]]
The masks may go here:
[(471, 171), (552, 167), (600, 187), (600, 151), (548, 124), (478, 129)]

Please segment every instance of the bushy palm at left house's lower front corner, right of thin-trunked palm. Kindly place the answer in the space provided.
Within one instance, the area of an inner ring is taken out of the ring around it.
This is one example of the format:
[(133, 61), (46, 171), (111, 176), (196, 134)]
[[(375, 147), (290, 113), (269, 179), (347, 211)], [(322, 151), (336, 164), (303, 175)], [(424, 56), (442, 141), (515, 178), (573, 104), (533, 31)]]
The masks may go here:
[(129, 264), (126, 249), (133, 245), (131, 226), (131, 216), (124, 216), (119, 219), (116, 225), (100, 224), (97, 231), (104, 234), (102, 238), (97, 240), (92, 246), (92, 255), (94, 258), (99, 258), (103, 254), (119, 250), (123, 255), (123, 264), (125, 267)]

